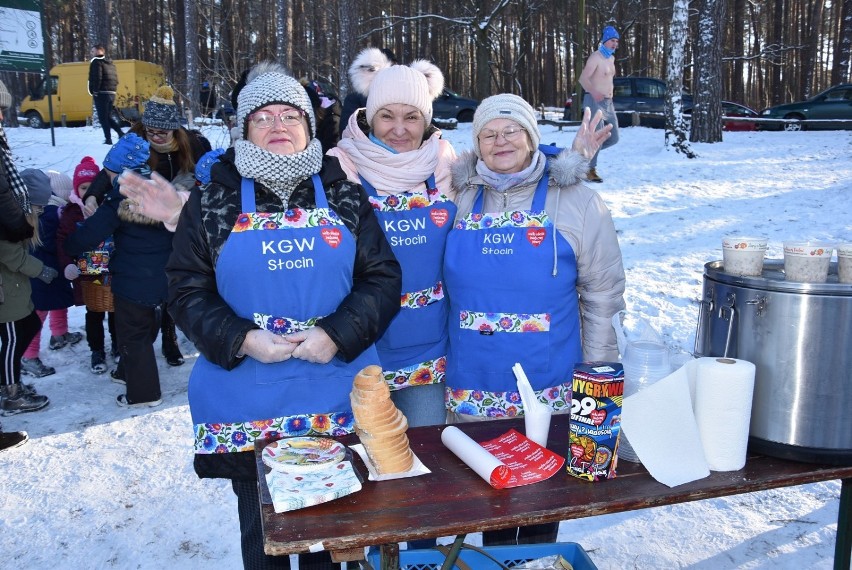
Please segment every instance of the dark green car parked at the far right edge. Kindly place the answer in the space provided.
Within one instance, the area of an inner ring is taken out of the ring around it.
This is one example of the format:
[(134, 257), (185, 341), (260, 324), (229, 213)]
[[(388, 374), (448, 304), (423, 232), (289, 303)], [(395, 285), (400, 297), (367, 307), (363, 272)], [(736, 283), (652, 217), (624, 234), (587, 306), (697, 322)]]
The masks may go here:
[[(775, 105), (760, 112), (764, 119), (788, 119), (786, 123), (764, 123), (765, 130), (852, 129), (852, 83), (829, 87), (807, 101)], [(846, 119), (845, 123), (825, 119)], [(802, 122), (806, 121), (806, 122)]]

